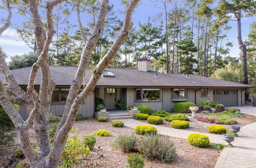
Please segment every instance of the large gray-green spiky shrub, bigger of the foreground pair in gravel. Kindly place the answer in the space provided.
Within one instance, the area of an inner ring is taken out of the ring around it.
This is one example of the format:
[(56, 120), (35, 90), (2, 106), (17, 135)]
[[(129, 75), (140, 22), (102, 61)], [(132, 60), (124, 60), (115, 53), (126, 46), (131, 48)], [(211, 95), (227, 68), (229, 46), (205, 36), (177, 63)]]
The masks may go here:
[(158, 159), (163, 162), (170, 162), (177, 156), (173, 142), (154, 134), (147, 134), (140, 141), (138, 150), (148, 159)]

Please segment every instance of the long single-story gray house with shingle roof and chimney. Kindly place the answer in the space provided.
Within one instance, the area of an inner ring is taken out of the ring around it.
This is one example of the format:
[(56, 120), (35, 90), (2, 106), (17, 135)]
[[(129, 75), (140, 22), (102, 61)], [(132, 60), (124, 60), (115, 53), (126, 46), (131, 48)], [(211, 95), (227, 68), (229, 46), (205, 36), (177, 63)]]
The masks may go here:
[[(11, 70), (19, 85), (26, 90), (31, 67)], [(65, 108), (70, 83), (77, 67), (50, 66), (51, 78), (56, 84), (52, 95), (50, 111), (61, 116)], [(84, 77), (84, 85), (91, 77), (89, 69)], [(5, 81), (0, 73), (0, 79)], [(41, 74), (37, 73), (35, 88), (39, 90)], [(138, 60), (138, 69), (106, 68), (97, 83), (94, 92), (83, 102), (79, 114), (93, 117), (95, 99), (104, 100), (105, 108), (117, 109), (116, 102), (120, 99), (127, 105), (148, 105), (154, 111), (171, 110), (177, 102), (194, 102), (200, 106), (199, 99), (217, 101), (225, 106), (244, 105), (244, 92), (252, 86), (241, 83), (213, 79), (191, 74), (165, 74), (151, 70), (151, 61)], [(28, 115), (23, 108), (20, 114)]]

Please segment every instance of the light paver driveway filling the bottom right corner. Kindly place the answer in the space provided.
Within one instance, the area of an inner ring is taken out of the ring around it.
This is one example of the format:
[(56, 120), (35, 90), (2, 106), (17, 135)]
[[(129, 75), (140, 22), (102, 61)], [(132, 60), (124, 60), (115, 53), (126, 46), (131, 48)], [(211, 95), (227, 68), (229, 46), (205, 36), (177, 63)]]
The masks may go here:
[(215, 167), (256, 167), (255, 128), (256, 123), (241, 128), (233, 147), (223, 149)]

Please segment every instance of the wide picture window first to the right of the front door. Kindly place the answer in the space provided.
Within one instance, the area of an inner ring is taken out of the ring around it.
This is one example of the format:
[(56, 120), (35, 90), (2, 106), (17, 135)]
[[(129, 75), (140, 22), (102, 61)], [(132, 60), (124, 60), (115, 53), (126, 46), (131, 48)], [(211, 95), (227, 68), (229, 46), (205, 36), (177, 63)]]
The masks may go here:
[(136, 101), (161, 100), (161, 89), (136, 89)]

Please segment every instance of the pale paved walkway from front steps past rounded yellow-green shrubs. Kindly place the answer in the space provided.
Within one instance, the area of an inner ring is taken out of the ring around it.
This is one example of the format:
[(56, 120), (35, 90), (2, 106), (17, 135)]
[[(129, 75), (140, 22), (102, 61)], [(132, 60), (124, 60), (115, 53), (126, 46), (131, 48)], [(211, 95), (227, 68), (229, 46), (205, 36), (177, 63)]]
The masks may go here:
[(190, 133), (200, 133), (200, 134), (204, 134), (204, 135), (208, 136), (211, 143), (215, 143), (215, 144), (225, 143), (225, 142), (223, 142), (222, 135), (195, 132), (195, 131), (188, 131), (188, 130), (175, 129), (175, 128), (168, 128), (168, 127), (163, 127), (163, 126), (160, 126), (160, 125), (144, 123), (144, 122), (134, 120), (134, 119), (119, 119), (119, 120), (124, 122), (124, 126), (131, 127), (131, 128), (135, 128), (137, 125), (151, 125), (151, 126), (154, 126), (158, 130), (157, 133), (159, 133), (161, 135), (168, 135), (168, 136), (174, 136), (174, 137), (187, 139), (187, 137)]

